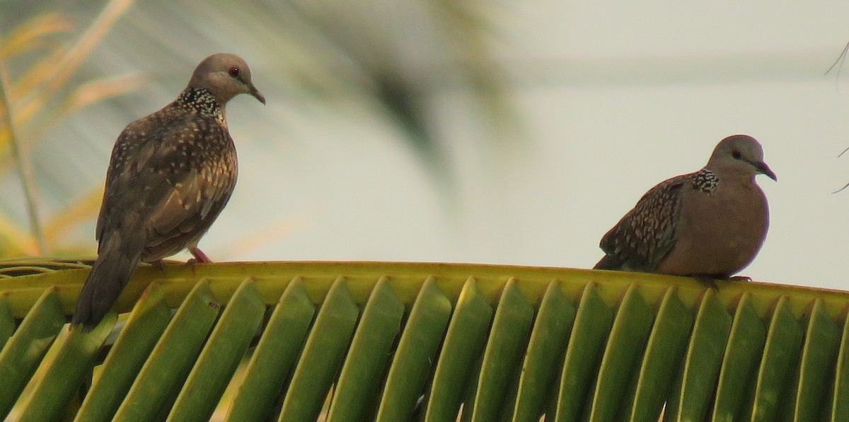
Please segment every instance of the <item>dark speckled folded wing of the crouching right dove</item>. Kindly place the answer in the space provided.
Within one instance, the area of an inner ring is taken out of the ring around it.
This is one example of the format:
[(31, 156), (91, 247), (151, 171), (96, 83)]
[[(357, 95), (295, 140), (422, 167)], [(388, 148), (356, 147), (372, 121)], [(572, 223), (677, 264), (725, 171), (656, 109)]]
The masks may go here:
[(653, 271), (675, 246), (681, 192), (692, 175), (680, 175), (651, 188), (601, 239), (621, 269)]

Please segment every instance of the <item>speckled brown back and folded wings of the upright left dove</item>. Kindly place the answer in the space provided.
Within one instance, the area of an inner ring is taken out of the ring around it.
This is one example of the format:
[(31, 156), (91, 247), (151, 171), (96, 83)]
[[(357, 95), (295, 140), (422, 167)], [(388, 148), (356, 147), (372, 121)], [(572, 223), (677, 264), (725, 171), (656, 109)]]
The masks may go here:
[[(220, 172), (235, 166), (234, 150), (212, 147), (199, 135), (232, 142), (226, 128), (197, 114), (162, 111), (133, 122), (118, 137), (97, 228), (99, 241), (106, 230), (137, 227), (138, 236), (146, 236), (146, 254), (154, 259), (202, 235), (235, 184), (235, 167), (232, 177)], [(198, 126), (203, 130), (194, 130)], [(193, 155), (201, 153), (207, 155)]]

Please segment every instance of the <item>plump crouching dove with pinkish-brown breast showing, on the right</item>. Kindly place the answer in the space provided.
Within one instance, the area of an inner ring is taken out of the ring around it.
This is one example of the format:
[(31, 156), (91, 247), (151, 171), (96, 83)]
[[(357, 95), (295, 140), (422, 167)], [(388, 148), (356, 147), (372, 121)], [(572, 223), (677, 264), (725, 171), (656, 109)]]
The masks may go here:
[(594, 269), (728, 279), (751, 264), (767, 236), (767, 198), (755, 175), (778, 180), (746, 135), (717, 144), (704, 169), (651, 188), (601, 239)]

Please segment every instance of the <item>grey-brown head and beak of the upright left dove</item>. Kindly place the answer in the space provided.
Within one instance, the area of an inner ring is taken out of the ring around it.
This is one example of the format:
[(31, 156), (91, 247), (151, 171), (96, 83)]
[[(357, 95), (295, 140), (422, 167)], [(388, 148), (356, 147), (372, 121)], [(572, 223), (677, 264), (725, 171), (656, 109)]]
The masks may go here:
[(194, 69), (188, 88), (203, 88), (211, 92), (223, 106), (239, 94), (248, 94), (265, 104), (265, 97), (250, 81), (250, 68), (235, 54), (212, 54)]

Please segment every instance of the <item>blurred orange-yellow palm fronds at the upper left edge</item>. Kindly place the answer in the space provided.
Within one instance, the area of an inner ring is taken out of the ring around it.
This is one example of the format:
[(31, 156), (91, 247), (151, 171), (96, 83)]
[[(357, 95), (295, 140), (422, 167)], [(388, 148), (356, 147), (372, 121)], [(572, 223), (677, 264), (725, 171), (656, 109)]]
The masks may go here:
[[(7, 227), (3, 236), (14, 242), (14, 247), (8, 252), (14, 255), (23, 253), (38, 254), (48, 247), (47, 239), (41, 229), (39, 207), (37, 206), (37, 184), (29, 169), (29, 161), (25, 152), (29, 151), (49, 130), (61, 119), (71, 113), (96, 103), (108, 97), (115, 97), (129, 92), (140, 86), (138, 75), (121, 76), (111, 79), (89, 81), (81, 86), (71, 87), (70, 77), (79, 69), (82, 62), (92, 52), (104, 36), (115, 24), (115, 21), (132, 4), (132, 0), (112, 0), (106, 5), (93, 24), (82, 36), (70, 46), (56, 45), (45, 57), (24, 71), (16, 81), (8, 81), (8, 74), (3, 67), (3, 104), (0, 112), (5, 116), (0, 124), (0, 174), (14, 167), (24, 183), (25, 203), (30, 217), (33, 242), (23, 241), (17, 236), (20, 230)], [(3, 38), (0, 45), (0, 58), (12, 58), (15, 55), (31, 51), (37, 47), (56, 44), (53, 39), (59, 34), (70, 31), (69, 19), (61, 14), (42, 14), (15, 28)], [(2, 62), (2, 60), (0, 60)], [(14, 114), (10, 113), (14, 110)], [(29, 125), (37, 119), (38, 125)], [(20, 133), (21, 128), (29, 126), (32, 129)], [(11, 144), (11, 148), (7, 148)], [(6, 155), (6, 151), (14, 152), (14, 157)], [(14, 158), (14, 159), (9, 159)], [(89, 215), (90, 216), (90, 215)], [(59, 221), (78, 224), (80, 219), (60, 218)], [(70, 227), (61, 229), (70, 230)], [(31, 250), (29, 244), (35, 243), (37, 249)]]

